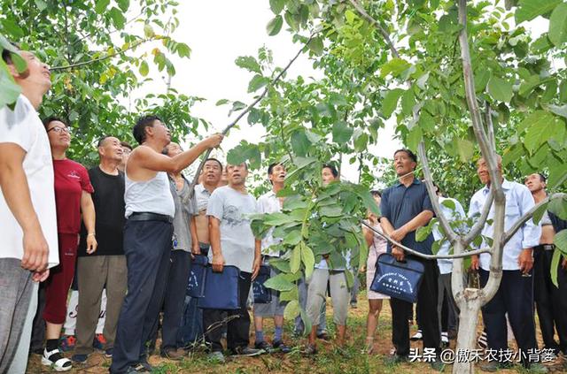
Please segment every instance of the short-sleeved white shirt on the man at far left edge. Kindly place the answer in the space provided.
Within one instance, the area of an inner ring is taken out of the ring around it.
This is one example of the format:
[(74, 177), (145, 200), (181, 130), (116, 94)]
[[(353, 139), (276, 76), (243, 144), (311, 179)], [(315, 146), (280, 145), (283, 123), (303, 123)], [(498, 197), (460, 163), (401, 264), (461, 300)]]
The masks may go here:
[[(19, 95), (13, 111), (7, 106), (0, 108), (0, 143), (14, 143), (26, 151), (23, 167), (27, 185), (43, 236), (50, 248), (49, 267), (53, 267), (59, 263), (59, 255), (50, 141), (42, 121), (26, 96)], [(21, 260), (24, 254), (23, 232), (12, 210), (8, 208), (2, 191), (0, 222), (0, 258)]]

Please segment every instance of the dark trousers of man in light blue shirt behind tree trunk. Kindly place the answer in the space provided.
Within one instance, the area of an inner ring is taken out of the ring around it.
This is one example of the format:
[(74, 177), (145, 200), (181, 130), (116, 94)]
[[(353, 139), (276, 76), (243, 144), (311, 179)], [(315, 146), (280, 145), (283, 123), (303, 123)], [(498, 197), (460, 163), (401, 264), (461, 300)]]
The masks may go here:
[[(488, 271), (480, 269), (480, 286), (488, 281)], [(498, 291), (491, 301), (482, 308), (488, 347), (508, 348), (508, 327), (506, 313), (518, 347), (526, 352), (537, 348), (535, 323), (533, 321), (533, 278), (523, 277), (522, 271), (502, 271)]]

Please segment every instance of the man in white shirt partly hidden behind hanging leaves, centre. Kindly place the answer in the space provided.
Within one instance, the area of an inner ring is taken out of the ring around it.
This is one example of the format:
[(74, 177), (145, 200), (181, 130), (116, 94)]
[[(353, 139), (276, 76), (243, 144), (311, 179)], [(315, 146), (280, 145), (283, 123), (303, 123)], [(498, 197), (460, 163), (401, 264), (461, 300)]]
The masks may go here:
[[(268, 166), (268, 179), (272, 184), (272, 189), (266, 194), (261, 195), (258, 199), (259, 213), (276, 213), (282, 211), (283, 197), (277, 197), (278, 191), (283, 188), (283, 181), (285, 179), (285, 166), (283, 164), (270, 164)], [(263, 263), (269, 265), (271, 259), (276, 259), (280, 256), (280, 251), (274, 246), (278, 245), (282, 240), (274, 238), (274, 229), (270, 229), (268, 234), (261, 240), (261, 250)], [(270, 266), (270, 277), (276, 275), (276, 269)], [(278, 349), (283, 353), (290, 351), (289, 347), (283, 344), (283, 310), (287, 302), (280, 301), (278, 293), (272, 290), (272, 300), (266, 304), (254, 304), (254, 328), (255, 328), (255, 347), (264, 349), (268, 352), (272, 349)], [(264, 340), (264, 318), (274, 318), (274, 340), (270, 346)]]

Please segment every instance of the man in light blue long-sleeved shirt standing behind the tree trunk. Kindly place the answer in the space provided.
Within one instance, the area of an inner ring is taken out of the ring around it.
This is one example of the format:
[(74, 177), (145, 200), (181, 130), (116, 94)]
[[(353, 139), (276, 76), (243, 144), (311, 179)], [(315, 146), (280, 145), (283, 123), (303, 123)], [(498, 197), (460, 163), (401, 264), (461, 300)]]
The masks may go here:
[[(470, 200), (469, 217), (478, 217), (489, 195), (490, 175), (485, 159), (478, 160), (478, 177), (485, 187), (472, 196)], [(498, 168), (501, 172), (501, 157), (498, 157)], [(517, 182), (502, 179), (502, 189), (506, 195), (505, 230), (509, 230), (524, 213), (534, 206), (530, 190)], [(488, 220), (493, 219), (493, 207), (488, 214)], [(486, 223), (482, 235), (493, 236), (493, 226)], [(539, 244), (541, 228), (528, 220), (515, 233), (503, 248), (502, 279), (498, 292), (482, 309), (488, 347), (490, 349), (508, 349), (506, 314), (517, 340), (518, 348), (527, 356), (530, 349), (537, 348), (535, 324), (533, 320), (533, 281), (532, 266), (533, 247)], [(483, 244), (486, 246), (487, 244)], [(490, 271), (490, 254), (482, 254), (472, 259), (472, 268), (479, 269), (481, 286), (485, 286)], [(529, 363), (522, 358), (524, 366), (530, 372), (547, 372), (539, 363)], [(481, 370), (495, 371), (509, 366), (510, 363), (488, 361), (479, 365)]]

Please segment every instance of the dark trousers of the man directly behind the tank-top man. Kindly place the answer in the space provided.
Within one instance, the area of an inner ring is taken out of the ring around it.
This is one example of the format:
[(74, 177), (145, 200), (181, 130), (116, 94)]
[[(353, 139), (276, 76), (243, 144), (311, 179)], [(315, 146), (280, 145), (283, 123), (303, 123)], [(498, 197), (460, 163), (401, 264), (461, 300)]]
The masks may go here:
[(183, 301), (190, 269), (190, 252), (172, 250), (161, 325), (161, 352), (177, 347), (177, 334), (183, 317)]

